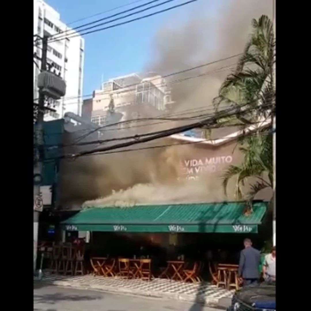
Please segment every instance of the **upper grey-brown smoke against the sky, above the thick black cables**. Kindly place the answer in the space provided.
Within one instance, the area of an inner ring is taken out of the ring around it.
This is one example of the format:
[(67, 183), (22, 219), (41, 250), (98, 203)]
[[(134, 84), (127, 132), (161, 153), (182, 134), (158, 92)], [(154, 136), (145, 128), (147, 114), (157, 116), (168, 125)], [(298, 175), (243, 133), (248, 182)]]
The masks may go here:
[[(147, 64), (148, 70), (165, 75), (241, 53), (251, 29), (251, 20), (262, 14), (271, 16), (272, 0), (204, 0), (188, 9), (189, 17), (182, 25), (176, 13), (156, 34), (151, 47), (153, 61)], [(234, 64), (236, 60), (172, 76), (169, 80), (211, 72)], [(175, 110), (211, 105), (229, 72), (172, 84), (172, 97), (177, 102)]]

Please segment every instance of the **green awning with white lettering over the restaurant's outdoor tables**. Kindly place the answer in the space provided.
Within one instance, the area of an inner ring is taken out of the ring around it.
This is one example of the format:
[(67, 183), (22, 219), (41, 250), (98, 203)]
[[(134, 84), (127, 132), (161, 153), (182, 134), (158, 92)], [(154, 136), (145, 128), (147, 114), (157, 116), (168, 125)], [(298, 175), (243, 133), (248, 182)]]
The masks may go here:
[(243, 215), (243, 202), (89, 207), (62, 222), (69, 231), (258, 233), (266, 202)]

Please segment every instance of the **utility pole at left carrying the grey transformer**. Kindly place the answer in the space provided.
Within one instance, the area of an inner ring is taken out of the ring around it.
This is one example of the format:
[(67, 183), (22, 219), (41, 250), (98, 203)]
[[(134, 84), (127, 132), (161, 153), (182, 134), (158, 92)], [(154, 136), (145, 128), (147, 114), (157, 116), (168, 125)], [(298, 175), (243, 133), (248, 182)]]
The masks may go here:
[[(41, 71), (46, 70), (46, 54), (48, 48), (48, 37), (42, 39), (42, 57), (41, 57)], [(38, 102), (38, 115), (36, 120), (36, 145), (35, 150), (35, 164), (34, 164), (34, 176), (41, 176), (42, 174), (42, 157), (43, 157), (43, 117), (44, 117), (44, 94), (39, 89), (39, 102)], [(40, 184), (34, 185), (34, 201), (35, 198), (40, 194)], [(34, 272), (36, 270), (37, 262), (37, 245), (38, 245), (38, 228), (39, 228), (39, 212), (34, 211)]]

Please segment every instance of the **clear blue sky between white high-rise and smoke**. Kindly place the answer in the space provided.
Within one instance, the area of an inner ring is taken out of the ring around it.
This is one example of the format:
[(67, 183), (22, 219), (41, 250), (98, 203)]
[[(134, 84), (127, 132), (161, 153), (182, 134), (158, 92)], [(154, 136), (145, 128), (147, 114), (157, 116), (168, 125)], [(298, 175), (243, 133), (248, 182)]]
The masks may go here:
[[(45, 1), (60, 13), (61, 21), (67, 25), (81, 18), (134, 2), (134, 0)], [(105, 81), (112, 77), (144, 71), (144, 68), (152, 58), (152, 42), (161, 26), (165, 23), (180, 23), (183, 19), (187, 18), (187, 15), (190, 14), (192, 10), (199, 8), (204, 1), (206, 0), (199, 0), (169, 12), (147, 17), (140, 21), (134, 21), (123, 26), (117, 26), (108, 30), (85, 35), (83, 95), (91, 94), (95, 89), (100, 89), (102, 79)], [(68, 26), (77, 27), (146, 2), (148, 1), (142, 0), (131, 6), (123, 7), (112, 12), (106, 12), (83, 21), (77, 21)], [(161, 2), (162, 1), (159, 3)], [(186, 2), (186, 0), (175, 0), (158, 8), (143, 12), (140, 15), (159, 11), (183, 2)], [(214, 12), (213, 10), (216, 9), (216, 7), (217, 1), (211, 1), (211, 12)], [(129, 18), (135, 17), (136, 16)]]

